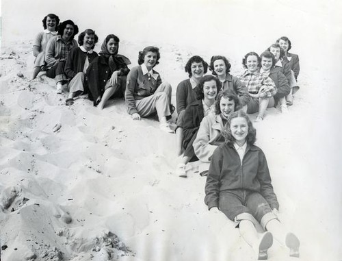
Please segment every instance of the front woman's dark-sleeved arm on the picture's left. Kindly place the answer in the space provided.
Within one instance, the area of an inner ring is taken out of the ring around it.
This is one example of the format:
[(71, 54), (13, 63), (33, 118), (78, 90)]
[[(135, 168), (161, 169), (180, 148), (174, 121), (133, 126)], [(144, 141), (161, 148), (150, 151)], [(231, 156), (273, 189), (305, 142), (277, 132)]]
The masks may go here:
[(218, 208), (222, 162), (222, 147), (218, 147), (218, 149), (215, 149), (213, 157), (211, 158), (207, 182), (205, 183), (205, 203), (209, 210), (211, 208)]

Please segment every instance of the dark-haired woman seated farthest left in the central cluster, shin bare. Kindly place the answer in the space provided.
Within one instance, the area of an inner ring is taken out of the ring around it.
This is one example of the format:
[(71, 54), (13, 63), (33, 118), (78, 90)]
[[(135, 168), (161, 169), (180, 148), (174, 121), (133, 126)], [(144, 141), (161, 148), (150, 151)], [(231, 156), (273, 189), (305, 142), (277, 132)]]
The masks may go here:
[(200, 56), (192, 56), (185, 64), (185, 73), (189, 74), (189, 79), (180, 82), (176, 90), (176, 107), (177, 107), (177, 122), (176, 122), (176, 145), (177, 156), (183, 153), (183, 121), (185, 108), (187, 105), (196, 101), (195, 88), (199, 84), (200, 79), (207, 73), (208, 64)]

